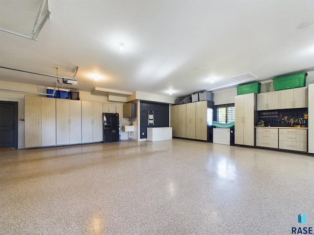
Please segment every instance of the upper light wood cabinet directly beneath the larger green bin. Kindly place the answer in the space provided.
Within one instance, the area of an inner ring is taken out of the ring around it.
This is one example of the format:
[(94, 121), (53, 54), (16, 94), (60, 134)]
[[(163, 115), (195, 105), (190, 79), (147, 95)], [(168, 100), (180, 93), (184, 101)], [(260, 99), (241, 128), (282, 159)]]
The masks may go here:
[(299, 87), (280, 91), (280, 109), (307, 108), (308, 88)]

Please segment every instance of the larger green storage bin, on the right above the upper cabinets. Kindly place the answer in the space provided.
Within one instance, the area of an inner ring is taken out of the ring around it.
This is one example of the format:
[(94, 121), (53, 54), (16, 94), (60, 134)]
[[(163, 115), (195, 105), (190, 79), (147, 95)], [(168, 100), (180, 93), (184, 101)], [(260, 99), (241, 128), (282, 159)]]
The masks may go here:
[(308, 73), (296, 73), (283, 77), (274, 78), (274, 91), (286, 90), (297, 87), (305, 87), (306, 76)]

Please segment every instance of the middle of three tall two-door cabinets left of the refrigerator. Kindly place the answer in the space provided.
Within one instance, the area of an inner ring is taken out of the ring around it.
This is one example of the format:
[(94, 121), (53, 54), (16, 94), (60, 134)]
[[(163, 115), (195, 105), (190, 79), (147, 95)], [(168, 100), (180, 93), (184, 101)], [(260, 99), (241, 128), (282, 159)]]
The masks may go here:
[(56, 144), (82, 142), (81, 101), (56, 99)]

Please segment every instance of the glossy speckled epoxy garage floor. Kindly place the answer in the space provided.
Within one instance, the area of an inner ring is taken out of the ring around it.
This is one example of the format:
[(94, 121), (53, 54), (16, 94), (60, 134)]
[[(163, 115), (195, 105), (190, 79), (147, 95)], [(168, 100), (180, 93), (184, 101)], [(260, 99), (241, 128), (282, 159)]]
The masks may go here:
[(314, 227), (313, 155), (180, 139), (0, 152), (1, 235), (280, 235), (304, 226)]

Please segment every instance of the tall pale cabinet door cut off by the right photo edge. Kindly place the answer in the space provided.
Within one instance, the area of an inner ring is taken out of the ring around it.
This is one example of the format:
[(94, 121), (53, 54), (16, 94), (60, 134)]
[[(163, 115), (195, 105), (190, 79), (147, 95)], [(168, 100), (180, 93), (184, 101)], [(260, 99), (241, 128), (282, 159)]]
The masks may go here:
[[(314, 100), (314, 83), (308, 85), (309, 100)], [(26, 119), (25, 119), (26, 120)], [(314, 153), (314, 102), (309, 102), (309, 119), (308, 119), (308, 138), (309, 153)]]

